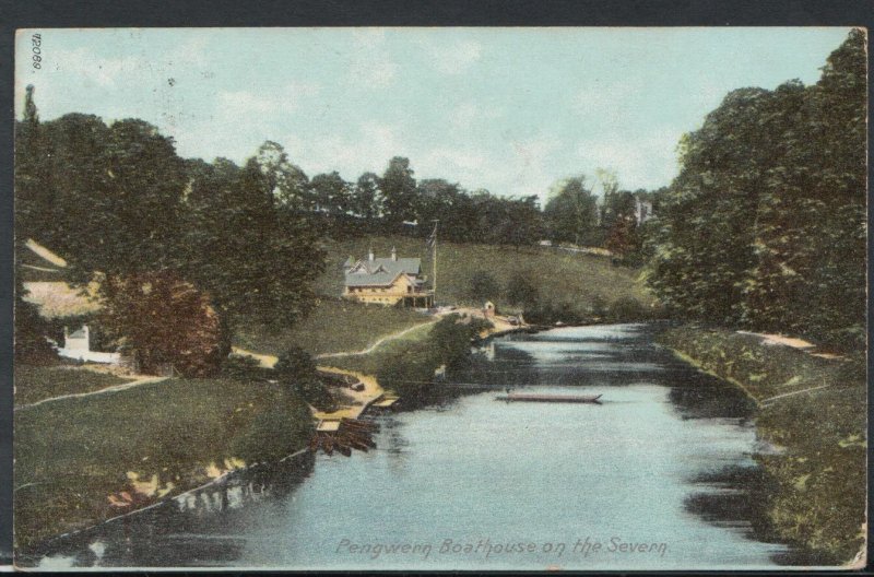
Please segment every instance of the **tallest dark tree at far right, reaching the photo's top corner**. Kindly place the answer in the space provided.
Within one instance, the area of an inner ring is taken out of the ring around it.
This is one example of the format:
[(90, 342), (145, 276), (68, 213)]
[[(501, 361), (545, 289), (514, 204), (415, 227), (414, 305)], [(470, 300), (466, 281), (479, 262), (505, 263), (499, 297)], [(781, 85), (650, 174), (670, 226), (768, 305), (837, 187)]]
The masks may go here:
[(815, 86), (778, 89), (793, 114), (758, 205), (753, 326), (864, 345), (866, 86), (864, 34), (852, 31)]

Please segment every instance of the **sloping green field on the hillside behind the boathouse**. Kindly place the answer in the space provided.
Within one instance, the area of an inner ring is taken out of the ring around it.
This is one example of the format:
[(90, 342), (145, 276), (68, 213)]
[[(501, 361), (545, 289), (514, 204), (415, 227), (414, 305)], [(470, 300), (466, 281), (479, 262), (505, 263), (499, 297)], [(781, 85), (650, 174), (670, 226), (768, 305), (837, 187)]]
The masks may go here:
[[(365, 237), (329, 243), (328, 269), (317, 281), (322, 294), (339, 296), (343, 288), (343, 262), (350, 257), (367, 258), (373, 247), (377, 257), (387, 257), (391, 248), (399, 257), (420, 257), (423, 272), (432, 276), (430, 250), (425, 242), (405, 236)], [(563, 252), (552, 247), (522, 247), (439, 243), (437, 255), (437, 304), (473, 305), (466, 293), (469, 280), (476, 272), (492, 274), (501, 287), (513, 275), (524, 275), (539, 290), (542, 299), (556, 304), (568, 303), (587, 308), (601, 302), (611, 304), (631, 298), (649, 306), (654, 298), (639, 280), (639, 271), (615, 267), (610, 259), (592, 255)], [(513, 309), (507, 303), (505, 291), (489, 297), (498, 307)]]

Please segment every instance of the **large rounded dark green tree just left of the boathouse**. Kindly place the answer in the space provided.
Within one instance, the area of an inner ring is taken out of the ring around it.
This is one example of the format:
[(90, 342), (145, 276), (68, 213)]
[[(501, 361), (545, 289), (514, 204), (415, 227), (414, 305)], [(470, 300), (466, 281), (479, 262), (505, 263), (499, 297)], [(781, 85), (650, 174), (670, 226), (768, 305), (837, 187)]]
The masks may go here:
[(229, 317), (286, 326), (312, 306), (311, 283), (324, 267), (318, 235), (276, 204), (255, 158), (243, 168), (216, 160), (191, 186), (184, 275)]

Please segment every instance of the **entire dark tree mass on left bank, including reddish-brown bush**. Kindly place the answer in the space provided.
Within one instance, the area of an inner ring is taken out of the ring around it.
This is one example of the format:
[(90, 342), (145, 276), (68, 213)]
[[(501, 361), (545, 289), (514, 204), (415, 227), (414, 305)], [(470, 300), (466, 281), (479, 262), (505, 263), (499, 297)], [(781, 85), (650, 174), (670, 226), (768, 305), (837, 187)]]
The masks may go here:
[[(34, 238), (63, 255), (72, 281), (99, 280), (101, 321), (143, 368), (209, 373), (234, 318), (287, 323), (311, 306), (323, 254), (312, 224), (276, 193), (292, 197), (302, 181), (283, 158), (189, 162), (141, 120), (40, 122), (32, 90), (15, 144), (16, 254)], [(170, 342), (168, 327), (175, 355), (158, 342)]]

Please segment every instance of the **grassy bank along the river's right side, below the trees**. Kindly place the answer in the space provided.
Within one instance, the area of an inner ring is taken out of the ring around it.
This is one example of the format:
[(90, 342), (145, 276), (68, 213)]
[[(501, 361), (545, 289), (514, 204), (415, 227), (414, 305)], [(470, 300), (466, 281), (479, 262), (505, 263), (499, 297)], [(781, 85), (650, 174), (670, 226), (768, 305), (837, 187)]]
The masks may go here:
[(775, 533), (815, 563), (851, 561), (864, 543), (864, 357), (820, 358), (695, 327), (666, 330), (659, 340), (757, 401), (759, 435), (782, 449), (756, 456), (779, 487), (768, 503)]

